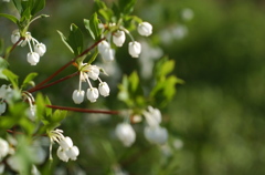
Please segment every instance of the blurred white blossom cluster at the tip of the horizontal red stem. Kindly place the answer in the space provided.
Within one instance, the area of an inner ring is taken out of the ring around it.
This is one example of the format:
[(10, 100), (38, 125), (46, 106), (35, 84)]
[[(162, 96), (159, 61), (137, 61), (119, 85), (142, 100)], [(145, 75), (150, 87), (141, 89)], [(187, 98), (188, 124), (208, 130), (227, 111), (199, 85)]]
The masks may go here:
[[(168, 140), (168, 131), (160, 126), (162, 121), (158, 109), (148, 106), (148, 111), (142, 112), (147, 126), (145, 126), (145, 137), (152, 144), (165, 144)], [(116, 126), (115, 134), (125, 146), (131, 146), (136, 140), (136, 133), (129, 123), (120, 123)]]

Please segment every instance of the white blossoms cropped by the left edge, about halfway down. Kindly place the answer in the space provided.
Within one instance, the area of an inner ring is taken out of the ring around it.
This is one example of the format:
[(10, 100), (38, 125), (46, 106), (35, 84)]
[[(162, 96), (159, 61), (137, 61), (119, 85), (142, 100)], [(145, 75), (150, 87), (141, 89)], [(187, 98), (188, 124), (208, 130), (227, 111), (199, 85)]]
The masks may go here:
[(9, 85), (3, 84), (0, 87), (0, 115), (7, 110), (7, 101), (12, 97), (12, 89)]

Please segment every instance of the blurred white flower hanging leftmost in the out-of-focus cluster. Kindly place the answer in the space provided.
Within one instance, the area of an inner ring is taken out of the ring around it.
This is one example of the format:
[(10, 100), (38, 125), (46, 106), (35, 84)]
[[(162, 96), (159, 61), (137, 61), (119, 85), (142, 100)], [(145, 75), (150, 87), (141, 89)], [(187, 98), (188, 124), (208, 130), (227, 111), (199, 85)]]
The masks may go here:
[(116, 126), (115, 133), (123, 144), (129, 147), (136, 140), (136, 133), (130, 124), (120, 123)]

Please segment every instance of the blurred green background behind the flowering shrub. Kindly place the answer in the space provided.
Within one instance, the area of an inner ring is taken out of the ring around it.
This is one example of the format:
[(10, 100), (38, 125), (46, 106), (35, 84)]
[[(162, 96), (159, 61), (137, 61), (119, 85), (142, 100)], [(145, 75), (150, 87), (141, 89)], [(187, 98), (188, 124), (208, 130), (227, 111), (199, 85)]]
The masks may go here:
[[(8, 11), (8, 7), (12, 4), (1, 3), (0, 9)], [(25, 56), (18, 56), (25, 55), (26, 49), (18, 48), (10, 59), (11, 69), (22, 76), (38, 71), (36, 81), (41, 81), (63, 65), (72, 55), (56, 30), (67, 33), (72, 22), (83, 28), (83, 19), (89, 18), (92, 9), (93, 1), (88, 0), (47, 0), (43, 12), (52, 17), (31, 27), (32, 35), (47, 45), (46, 54), (36, 66), (30, 66)], [(173, 102), (162, 111), (163, 125), (170, 133), (169, 144), (162, 148), (148, 144), (141, 126), (135, 125), (137, 142), (124, 148), (114, 137), (120, 117), (70, 113), (62, 128), (78, 145), (81, 155), (77, 162), (57, 162), (54, 169), (67, 167), (67, 174), (83, 169), (100, 175), (110, 174), (119, 165), (130, 175), (265, 174), (264, 1), (139, 0), (135, 13), (153, 24), (153, 35), (139, 40), (174, 59), (176, 74), (186, 81), (178, 86)], [(0, 37), (10, 44), (14, 25), (1, 18), (0, 29)], [(88, 45), (92, 41), (86, 35)], [(127, 47), (117, 51), (116, 61), (119, 72), (126, 74), (142, 63), (128, 55)], [(66, 70), (65, 75), (73, 70)], [(120, 74), (103, 79), (112, 84), (110, 97), (82, 106), (124, 107), (116, 100)], [(77, 81), (75, 78), (43, 93), (54, 104), (77, 106), (71, 99)]]

